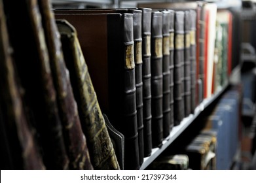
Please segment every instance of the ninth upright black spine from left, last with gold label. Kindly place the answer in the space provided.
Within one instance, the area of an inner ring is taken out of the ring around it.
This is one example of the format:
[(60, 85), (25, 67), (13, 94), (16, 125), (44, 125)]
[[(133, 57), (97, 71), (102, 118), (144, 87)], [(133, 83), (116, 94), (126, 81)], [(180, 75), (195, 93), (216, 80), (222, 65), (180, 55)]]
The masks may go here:
[(196, 108), (196, 12), (190, 10), (191, 14), (191, 112)]

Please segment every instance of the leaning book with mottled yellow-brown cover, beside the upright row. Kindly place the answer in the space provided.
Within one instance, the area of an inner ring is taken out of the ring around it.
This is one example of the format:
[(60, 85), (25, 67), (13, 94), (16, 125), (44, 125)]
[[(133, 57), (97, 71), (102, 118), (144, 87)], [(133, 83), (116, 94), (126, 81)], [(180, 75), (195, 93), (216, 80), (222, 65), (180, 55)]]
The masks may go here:
[(119, 169), (113, 144), (98, 104), (77, 33), (67, 22), (58, 21), (71, 84), (78, 103), (82, 129), (86, 135), (94, 169)]

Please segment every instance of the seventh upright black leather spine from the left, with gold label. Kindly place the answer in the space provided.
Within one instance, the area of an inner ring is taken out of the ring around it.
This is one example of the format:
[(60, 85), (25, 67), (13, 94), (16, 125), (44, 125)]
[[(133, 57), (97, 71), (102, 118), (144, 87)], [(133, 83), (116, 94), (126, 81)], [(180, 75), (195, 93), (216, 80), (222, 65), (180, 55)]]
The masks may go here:
[(175, 12), (174, 37), (174, 125), (179, 125), (184, 117), (183, 63), (184, 63), (184, 12)]

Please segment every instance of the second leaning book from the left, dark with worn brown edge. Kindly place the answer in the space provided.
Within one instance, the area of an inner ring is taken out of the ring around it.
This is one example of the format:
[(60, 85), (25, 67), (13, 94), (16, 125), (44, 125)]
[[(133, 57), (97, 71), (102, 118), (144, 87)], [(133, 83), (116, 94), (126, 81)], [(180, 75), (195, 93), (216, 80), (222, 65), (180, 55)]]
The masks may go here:
[[(10, 42), (23, 87), (26, 113), (31, 125), (36, 128), (35, 136), (40, 144), (43, 162), (46, 169), (68, 169), (69, 159), (37, 1), (18, 1), (14, 7), (10, 1), (3, 2), (9, 17)], [(20, 29), (16, 22), (24, 22), (24, 27)]]

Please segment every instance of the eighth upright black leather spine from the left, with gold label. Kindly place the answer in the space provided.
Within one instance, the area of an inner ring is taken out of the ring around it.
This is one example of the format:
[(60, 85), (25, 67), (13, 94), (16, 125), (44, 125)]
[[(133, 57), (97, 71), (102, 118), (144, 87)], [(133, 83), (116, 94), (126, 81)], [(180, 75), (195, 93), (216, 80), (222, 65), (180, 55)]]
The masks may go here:
[(185, 11), (185, 49), (184, 49), (184, 112), (191, 114), (191, 14)]

